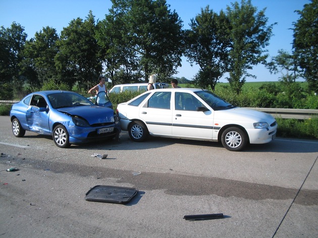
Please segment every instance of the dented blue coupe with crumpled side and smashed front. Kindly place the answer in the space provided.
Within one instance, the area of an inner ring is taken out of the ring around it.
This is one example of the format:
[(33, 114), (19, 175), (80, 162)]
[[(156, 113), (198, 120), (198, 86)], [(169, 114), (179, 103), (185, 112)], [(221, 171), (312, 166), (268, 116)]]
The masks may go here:
[(51, 135), (60, 148), (118, 138), (121, 132), (114, 110), (68, 91), (31, 93), (12, 106), (10, 118), (16, 137), (23, 137), (25, 131)]

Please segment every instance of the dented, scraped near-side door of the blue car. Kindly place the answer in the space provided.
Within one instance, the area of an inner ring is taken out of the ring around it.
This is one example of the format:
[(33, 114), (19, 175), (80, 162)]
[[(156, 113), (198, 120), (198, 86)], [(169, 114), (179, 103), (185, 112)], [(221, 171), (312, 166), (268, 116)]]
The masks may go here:
[[(46, 105), (39, 104), (39, 102), (43, 103), (43, 100)], [(34, 95), (30, 106), (26, 111), (26, 121), (30, 131), (34, 131), (39, 134), (50, 134), (48, 120), (49, 110), (46, 100), (40, 95)]]

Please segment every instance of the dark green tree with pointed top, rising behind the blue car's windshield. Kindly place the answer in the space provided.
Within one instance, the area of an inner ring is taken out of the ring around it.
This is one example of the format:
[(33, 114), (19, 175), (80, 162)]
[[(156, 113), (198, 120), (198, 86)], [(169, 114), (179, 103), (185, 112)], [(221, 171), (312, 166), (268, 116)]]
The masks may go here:
[(82, 86), (87, 82), (89, 88), (97, 83), (102, 72), (95, 30), (95, 19), (90, 11), (86, 20), (74, 19), (61, 32), (55, 61), (60, 82), (64, 81), (70, 88), (75, 82)]

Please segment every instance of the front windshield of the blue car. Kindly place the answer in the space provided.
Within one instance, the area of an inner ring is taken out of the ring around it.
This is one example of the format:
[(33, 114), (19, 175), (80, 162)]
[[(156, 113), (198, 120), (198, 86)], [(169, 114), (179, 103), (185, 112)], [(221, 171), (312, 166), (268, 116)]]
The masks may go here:
[(77, 106), (93, 106), (89, 100), (76, 93), (57, 93), (47, 96), (53, 108), (77, 107)]

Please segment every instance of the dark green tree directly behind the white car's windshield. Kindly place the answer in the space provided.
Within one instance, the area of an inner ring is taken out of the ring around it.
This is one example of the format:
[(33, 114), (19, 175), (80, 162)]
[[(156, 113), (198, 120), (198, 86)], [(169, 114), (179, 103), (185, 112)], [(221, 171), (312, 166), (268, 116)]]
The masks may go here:
[(189, 24), (186, 31), (185, 56), (190, 64), (199, 65), (195, 84), (200, 88), (210, 87), (213, 91), (219, 79), (228, 69), (229, 21), (223, 11), (218, 15), (207, 6)]

